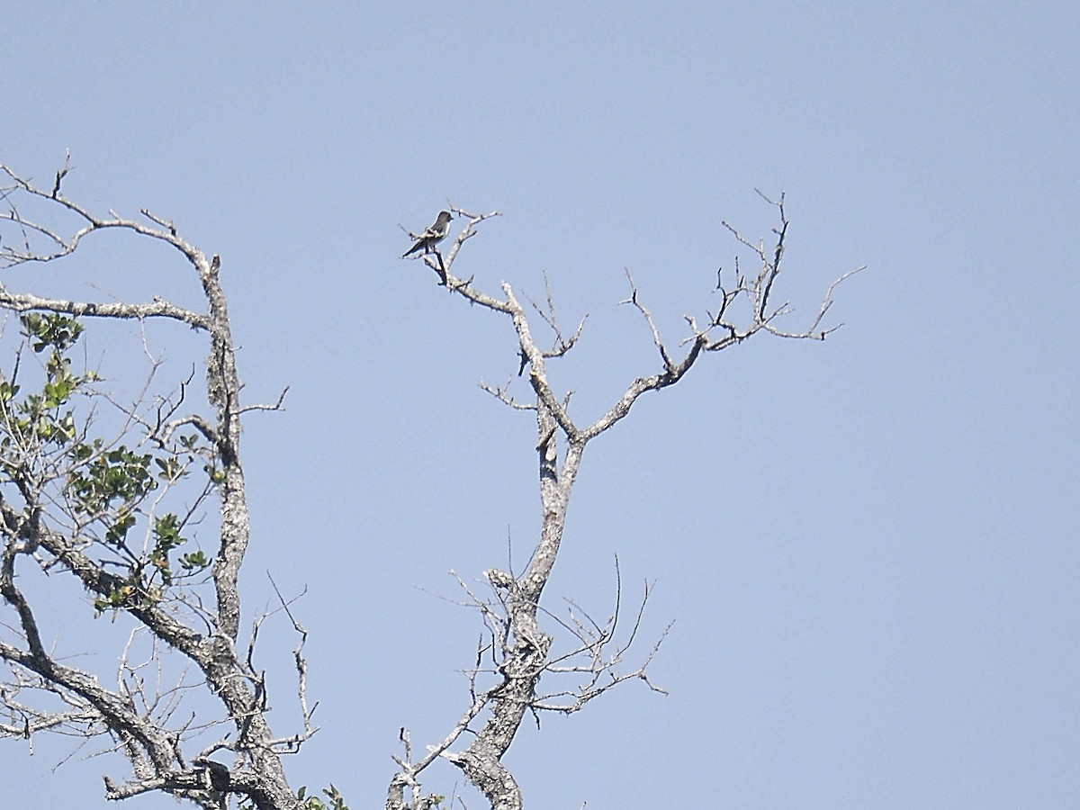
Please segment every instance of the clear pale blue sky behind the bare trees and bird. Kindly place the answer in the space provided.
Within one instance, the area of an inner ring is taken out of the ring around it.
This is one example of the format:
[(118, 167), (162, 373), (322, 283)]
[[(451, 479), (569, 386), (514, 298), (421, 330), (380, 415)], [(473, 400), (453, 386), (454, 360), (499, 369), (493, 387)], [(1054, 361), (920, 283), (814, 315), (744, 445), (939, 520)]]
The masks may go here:
[[(219, 253), (248, 401), (291, 386), (247, 422), (244, 583), (253, 609), (267, 570), (309, 589), (323, 730), (293, 784), (383, 802), (399, 728), (422, 748), (467, 705), (447, 571), (538, 526), (535, 427), (476, 386), (516, 372), (512, 332), (401, 261), (399, 224), (503, 212), (455, 269), (590, 313), (553, 373), (585, 420), (659, 369), (624, 268), (684, 336), (737, 253), (720, 220), (773, 227), (758, 188), (787, 194), (793, 328), (869, 269), (824, 343), (705, 357), (590, 445), (549, 607), (606, 615), (618, 554), (654, 582), (646, 636), (675, 620), (671, 693), (526, 725), (527, 806), (1080, 806), (1076, 6), (390, 5), (36, 4), (0, 49), (0, 159), (44, 180), (70, 149), (69, 195)], [(193, 300), (187, 272), (69, 293)], [(0, 743), (11, 806), (106, 807), (123, 764), (54, 772), (70, 751)]]

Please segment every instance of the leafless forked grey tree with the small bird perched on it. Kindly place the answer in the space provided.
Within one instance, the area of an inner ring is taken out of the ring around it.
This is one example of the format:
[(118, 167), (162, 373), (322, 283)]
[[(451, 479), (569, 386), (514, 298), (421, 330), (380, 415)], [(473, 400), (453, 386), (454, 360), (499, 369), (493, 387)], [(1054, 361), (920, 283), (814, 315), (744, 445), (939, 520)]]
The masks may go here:
[[(556, 620), (556, 627), (567, 631), (571, 639), (569, 651), (557, 654), (552, 653), (553, 636), (542, 630), (538, 621), (541, 595), (558, 555), (567, 507), (585, 446), (625, 418), (642, 394), (674, 386), (697, 365), (702, 354), (728, 349), (758, 333), (791, 339), (824, 340), (831, 332), (838, 328), (822, 328), (821, 324), (833, 303), (836, 285), (858, 270), (845, 273), (829, 285), (821, 308), (807, 328), (789, 332), (780, 327), (779, 321), (789, 312), (789, 308), (787, 303), (772, 303), (770, 298), (781, 270), (788, 220), (783, 195), (775, 202), (764, 194), (761, 197), (779, 215), (780, 224), (773, 231), (774, 240), (768, 247), (764, 242), (752, 243), (731, 225), (724, 222), (733, 238), (750, 248), (756, 259), (756, 267), (753, 271), (743, 273), (737, 259), (731, 274), (733, 278), (727, 283), (723, 279), (723, 272), (717, 271), (714, 291), (718, 293), (716, 312), (706, 313), (700, 320), (692, 315), (686, 316), (689, 334), (678, 342), (677, 348), (661, 338), (651, 313), (640, 300), (634, 280), (626, 273), (630, 295), (622, 303), (634, 307), (640, 313), (660, 355), (660, 369), (630, 381), (610, 408), (589, 424), (575, 421), (569, 408), (570, 392), (559, 394), (554, 391), (548, 376), (548, 362), (557, 361), (575, 347), (584, 320), (573, 333), (564, 333), (555, 318), (549, 289), (543, 305), (532, 305), (532, 310), (551, 335), (550, 348), (541, 348), (534, 336), (528, 311), (510, 284), (501, 285), (500, 297), (478, 289), (472, 278), (455, 276), (450, 270), (461, 247), (477, 233), (476, 226), (498, 216), (498, 212), (473, 214), (451, 207), (455, 214), (467, 220), (465, 227), (445, 257), (434, 251), (421, 258), (436, 273), (438, 283), (453, 294), (484, 309), (499, 312), (513, 324), (521, 357), (518, 375), (528, 368), (530, 395), (527, 400), (517, 401), (510, 394), (509, 384), (484, 388), (503, 404), (535, 415), (542, 517), (538, 540), (524, 571), (514, 573), (490, 569), (485, 572), (494, 597), (476, 596), (465, 583), (461, 583), (488, 630), (487, 643), (481, 645), (476, 666), (469, 673), (471, 703), (449, 733), (437, 744), (429, 746), (427, 755), (416, 761), (411, 758), (411, 743), (403, 729), (405, 757), (396, 758), (399, 771), (390, 783), (388, 810), (423, 810), (436, 801), (437, 796), (423, 794), (418, 777), (438, 757), (460, 768), (465, 778), (483, 792), (492, 810), (519, 810), (523, 807), (522, 792), (513, 774), (503, 766), (502, 758), (526, 713), (572, 713), (627, 679), (642, 679), (650, 688), (663, 691), (649, 680), (647, 673), (648, 664), (663, 636), (645, 654), (642, 663), (630, 670), (623, 667), (624, 656), (638, 634), (648, 589), (638, 606), (636, 620), (621, 642), (616, 637), (621, 583), (617, 589), (616, 610), (603, 624), (592, 621), (588, 615), (580, 618), (571, 613), (568, 621)], [(409, 235), (418, 238), (417, 234)], [(550, 613), (549, 617), (555, 619)], [(489, 662), (486, 666), (485, 661)], [(551, 692), (539, 689), (541, 677), (563, 675), (573, 676), (573, 683), (567, 688)], [(484, 686), (481, 686), (482, 678)], [(474, 724), (477, 728), (473, 728)], [(473, 734), (471, 742), (461, 751), (451, 751), (467, 729)], [(409, 791), (408, 796), (405, 795), (406, 788)]]

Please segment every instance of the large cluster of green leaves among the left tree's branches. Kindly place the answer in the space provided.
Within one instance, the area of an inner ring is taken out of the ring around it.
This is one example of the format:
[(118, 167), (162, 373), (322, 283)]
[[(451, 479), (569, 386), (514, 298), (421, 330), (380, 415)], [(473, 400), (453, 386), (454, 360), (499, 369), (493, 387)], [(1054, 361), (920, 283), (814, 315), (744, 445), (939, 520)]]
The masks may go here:
[[(29, 348), (43, 355), (43, 380), (31, 388), (25, 380), (19, 386), (14, 377), (0, 378), (0, 483), (6, 478), (30, 489), (56, 487), (50, 497), (63, 503), (80, 536), (106, 549), (103, 563), (107, 559), (116, 576), (108, 593), (96, 594), (98, 616), (111, 610), (116, 618), (120, 610), (152, 607), (177, 577), (197, 575), (211, 561), (201, 551), (174, 557), (187, 542), (185, 518), (172, 512), (154, 515), (147, 502), (150, 494), (187, 477), (197, 459), (207, 462), (212, 482), (220, 483), (224, 473), (200, 433), (178, 436), (172, 448), (159, 441), (152, 453), (87, 436), (90, 418), (77, 416), (71, 403), (80, 394), (97, 395), (86, 388), (100, 378), (72, 372), (68, 356), (84, 327), (57, 313), (31, 312), (19, 321)], [(22, 388), (30, 390), (23, 393)], [(136, 529), (140, 524), (143, 531)], [(136, 534), (146, 541), (141, 549), (130, 542)]]

